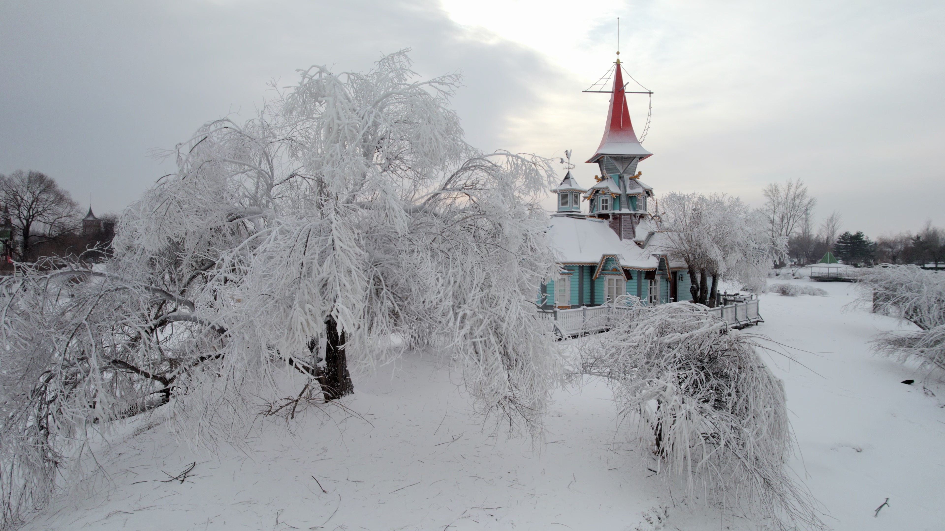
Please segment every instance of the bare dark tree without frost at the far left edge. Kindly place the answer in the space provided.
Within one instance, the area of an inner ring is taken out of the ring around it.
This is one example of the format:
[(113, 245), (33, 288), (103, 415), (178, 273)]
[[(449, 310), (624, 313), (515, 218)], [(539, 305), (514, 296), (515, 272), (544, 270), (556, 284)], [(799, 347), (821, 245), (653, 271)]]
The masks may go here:
[[(28, 260), (34, 241), (54, 239), (75, 228), (77, 204), (56, 180), (30, 170), (0, 175), (0, 203), (20, 237), (20, 259)], [(44, 234), (34, 233), (41, 230)]]

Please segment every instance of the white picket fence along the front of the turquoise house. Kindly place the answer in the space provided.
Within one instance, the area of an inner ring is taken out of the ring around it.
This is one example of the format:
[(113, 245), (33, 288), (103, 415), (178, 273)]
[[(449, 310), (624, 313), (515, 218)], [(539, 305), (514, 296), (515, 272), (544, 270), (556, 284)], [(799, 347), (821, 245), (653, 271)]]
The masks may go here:
[[(626, 306), (601, 306), (570, 308), (567, 310), (542, 311), (539, 315), (550, 321), (556, 334), (562, 337), (594, 334), (612, 328), (613, 323), (630, 308)], [(725, 319), (732, 328), (742, 328), (764, 322), (758, 312), (758, 300), (734, 302), (709, 309), (713, 316)]]

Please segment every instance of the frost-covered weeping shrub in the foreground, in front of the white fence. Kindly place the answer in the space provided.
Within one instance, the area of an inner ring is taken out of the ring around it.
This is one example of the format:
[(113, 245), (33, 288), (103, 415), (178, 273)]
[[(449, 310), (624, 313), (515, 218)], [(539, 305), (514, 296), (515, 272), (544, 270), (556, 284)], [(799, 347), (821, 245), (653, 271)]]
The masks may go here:
[(581, 347), (581, 372), (608, 378), (621, 413), (653, 441), (658, 467), (777, 528), (822, 527), (785, 471), (790, 435), (782, 382), (757, 345), (705, 308), (631, 310)]

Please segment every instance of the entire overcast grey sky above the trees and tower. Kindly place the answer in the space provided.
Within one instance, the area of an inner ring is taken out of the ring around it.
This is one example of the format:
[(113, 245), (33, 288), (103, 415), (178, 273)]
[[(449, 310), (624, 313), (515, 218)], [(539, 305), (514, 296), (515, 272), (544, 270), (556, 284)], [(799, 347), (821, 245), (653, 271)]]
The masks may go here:
[[(366, 70), (412, 48), (424, 77), (459, 71), (468, 140), (585, 164), (614, 59), (654, 91), (643, 180), (760, 206), (799, 177), (818, 220), (875, 237), (945, 225), (945, 3), (0, 2), (0, 173), (36, 169), (96, 213), (174, 170), (149, 153), (208, 120), (249, 118), (266, 83), (312, 64)], [(646, 99), (631, 101), (643, 128)], [(549, 203), (550, 206), (550, 203)]]

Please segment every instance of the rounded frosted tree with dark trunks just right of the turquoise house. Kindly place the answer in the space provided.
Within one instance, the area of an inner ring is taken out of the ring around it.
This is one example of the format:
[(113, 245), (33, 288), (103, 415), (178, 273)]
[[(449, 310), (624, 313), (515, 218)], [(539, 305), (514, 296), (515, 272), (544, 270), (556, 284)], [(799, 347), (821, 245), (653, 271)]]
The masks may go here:
[(689, 267), (694, 301), (711, 303), (722, 280), (764, 289), (771, 260), (783, 256), (786, 241), (771, 239), (761, 214), (725, 194), (671, 193), (660, 204), (668, 242), (662, 251)]

